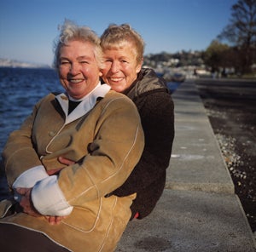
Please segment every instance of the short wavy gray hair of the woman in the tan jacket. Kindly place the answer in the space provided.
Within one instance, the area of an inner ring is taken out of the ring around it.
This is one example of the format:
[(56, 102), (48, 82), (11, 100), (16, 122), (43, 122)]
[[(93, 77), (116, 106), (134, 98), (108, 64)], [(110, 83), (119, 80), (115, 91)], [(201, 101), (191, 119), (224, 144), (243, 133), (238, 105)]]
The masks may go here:
[(59, 26), (61, 33), (54, 42), (54, 61), (53, 67), (55, 70), (59, 68), (60, 49), (62, 46), (67, 45), (73, 40), (79, 40), (82, 42), (89, 42), (94, 46), (94, 54), (96, 62), (100, 68), (102, 68), (102, 48), (100, 38), (96, 35), (95, 31), (92, 31), (87, 26), (77, 26), (71, 20), (65, 20), (62, 26)]

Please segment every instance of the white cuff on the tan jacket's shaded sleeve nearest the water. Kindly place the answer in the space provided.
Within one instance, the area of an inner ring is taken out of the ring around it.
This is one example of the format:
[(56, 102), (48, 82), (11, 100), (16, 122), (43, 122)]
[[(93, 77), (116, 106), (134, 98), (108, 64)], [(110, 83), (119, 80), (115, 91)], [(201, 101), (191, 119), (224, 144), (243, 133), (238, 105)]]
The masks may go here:
[(43, 165), (35, 166), (23, 172), (14, 182), (13, 188), (31, 188), (39, 180), (44, 180), (49, 177)]

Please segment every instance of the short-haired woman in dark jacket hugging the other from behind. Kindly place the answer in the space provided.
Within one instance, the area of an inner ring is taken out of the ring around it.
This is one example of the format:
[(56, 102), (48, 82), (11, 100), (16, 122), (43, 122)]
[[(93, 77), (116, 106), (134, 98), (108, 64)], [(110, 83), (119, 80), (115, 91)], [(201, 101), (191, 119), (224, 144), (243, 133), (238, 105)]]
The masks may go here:
[[(143, 69), (143, 38), (129, 25), (110, 25), (103, 32), (102, 79), (137, 106), (145, 135), (143, 155), (122, 186), (109, 193), (124, 197), (137, 192), (131, 219), (149, 215), (165, 184), (174, 138), (174, 106), (164, 79)], [(125, 129), (124, 129), (125, 130)]]

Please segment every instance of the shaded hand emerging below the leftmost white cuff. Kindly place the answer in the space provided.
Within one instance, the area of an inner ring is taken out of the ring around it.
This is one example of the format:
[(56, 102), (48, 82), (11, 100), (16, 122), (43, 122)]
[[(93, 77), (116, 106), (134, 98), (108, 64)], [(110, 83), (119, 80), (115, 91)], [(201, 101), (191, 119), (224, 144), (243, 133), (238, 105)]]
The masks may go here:
[(32, 204), (32, 188), (17, 188), (16, 191), (22, 196), (20, 199), (20, 206), (22, 207), (24, 213), (34, 217), (42, 216), (38, 213), (37, 209), (35, 209)]

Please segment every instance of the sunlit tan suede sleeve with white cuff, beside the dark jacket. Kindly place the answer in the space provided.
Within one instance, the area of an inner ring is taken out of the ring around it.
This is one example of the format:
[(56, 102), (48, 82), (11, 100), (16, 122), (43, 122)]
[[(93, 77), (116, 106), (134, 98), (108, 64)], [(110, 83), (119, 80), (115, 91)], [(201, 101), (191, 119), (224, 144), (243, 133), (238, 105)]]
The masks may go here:
[(111, 100), (102, 110), (96, 129), (88, 130), (95, 131), (89, 154), (62, 169), (57, 179), (38, 181), (33, 188), (32, 201), (40, 213), (67, 214), (74, 205), (107, 195), (124, 183), (141, 157), (143, 129), (136, 106), (126, 97)]

